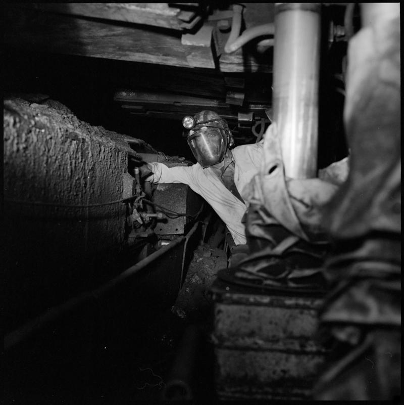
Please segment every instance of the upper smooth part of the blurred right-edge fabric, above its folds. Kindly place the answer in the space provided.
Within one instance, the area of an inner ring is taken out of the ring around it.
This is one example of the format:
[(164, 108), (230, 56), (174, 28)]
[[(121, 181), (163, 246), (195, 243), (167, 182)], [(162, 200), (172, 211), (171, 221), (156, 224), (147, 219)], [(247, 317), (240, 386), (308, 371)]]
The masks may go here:
[(325, 212), (335, 239), (401, 232), (399, 48), (399, 18), (362, 29), (349, 43), (344, 121), (350, 171)]

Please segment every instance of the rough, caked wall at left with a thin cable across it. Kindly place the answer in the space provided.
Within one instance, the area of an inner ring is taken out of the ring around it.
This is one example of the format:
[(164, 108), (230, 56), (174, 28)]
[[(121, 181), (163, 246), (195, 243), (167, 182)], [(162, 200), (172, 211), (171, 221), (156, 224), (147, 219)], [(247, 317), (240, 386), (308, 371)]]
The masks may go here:
[(114, 271), (126, 207), (83, 206), (122, 198), (128, 154), (136, 155), (123, 135), (80, 121), (61, 103), (5, 100), (8, 326)]

